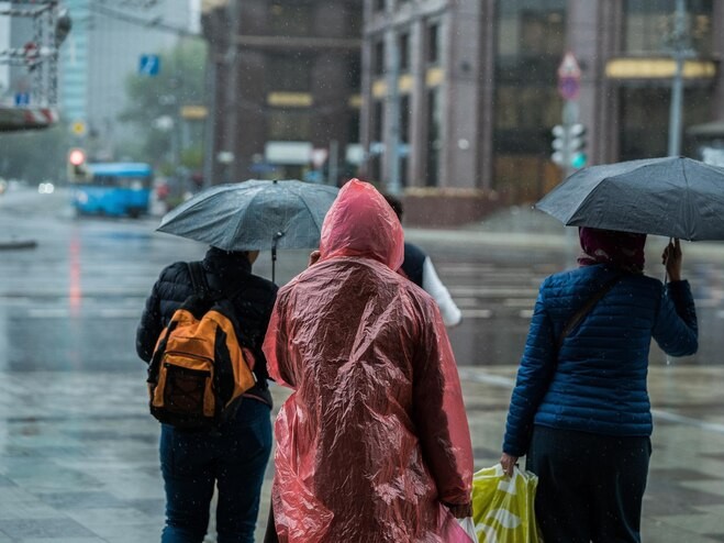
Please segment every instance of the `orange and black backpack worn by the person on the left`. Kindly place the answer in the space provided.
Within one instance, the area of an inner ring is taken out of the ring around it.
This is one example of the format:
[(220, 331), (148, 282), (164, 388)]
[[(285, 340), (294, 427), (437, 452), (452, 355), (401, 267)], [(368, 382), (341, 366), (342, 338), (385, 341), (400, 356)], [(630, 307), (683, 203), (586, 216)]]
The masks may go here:
[(174, 312), (148, 366), (151, 413), (180, 429), (218, 428), (256, 380), (237, 333), (234, 296), (212, 296), (200, 262), (194, 293)]

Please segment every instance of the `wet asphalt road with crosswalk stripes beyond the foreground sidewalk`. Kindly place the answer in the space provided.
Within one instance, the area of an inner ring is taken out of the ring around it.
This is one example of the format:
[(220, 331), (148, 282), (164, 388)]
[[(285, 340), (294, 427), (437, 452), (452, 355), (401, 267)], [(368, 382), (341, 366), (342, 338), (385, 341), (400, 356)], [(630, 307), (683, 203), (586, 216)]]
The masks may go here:
[[(541, 279), (569, 266), (575, 257), (576, 241), (560, 235), (563, 229), (552, 221), (510, 213), (457, 232), (408, 231), (410, 240), (428, 251), (463, 310), (463, 323), (449, 331), (460, 366), (517, 363)], [(157, 224), (158, 218), (74, 218), (64, 191), (3, 195), (0, 370), (137, 368), (135, 326), (158, 272), (178, 259), (201, 258), (205, 252), (200, 243), (154, 232)], [(12, 248), (27, 241), (36, 246)], [(660, 253), (657, 244), (662, 243), (651, 240), (648, 253)], [(307, 254), (279, 252), (277, 282), (301, 272)], [(686, 255), (702, 347), (680, 364), (724, 363), (719, 356), (724, 350), (722, 254), (714, 247), (703, 256)], [(649, 273), (661, 277), (656, 257), (648, 258)], [(270, 254), (263, 253), (255, 273), (270, 277)], [(666, 357), (655, 347), (651, 362), (657, 361), (666, 363)]]

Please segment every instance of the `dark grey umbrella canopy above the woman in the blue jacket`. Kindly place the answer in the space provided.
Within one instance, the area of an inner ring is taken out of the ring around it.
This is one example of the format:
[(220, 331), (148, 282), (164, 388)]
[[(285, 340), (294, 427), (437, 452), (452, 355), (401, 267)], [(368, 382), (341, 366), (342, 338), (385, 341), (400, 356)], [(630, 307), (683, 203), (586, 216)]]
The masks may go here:
[(724, 240), (724, 168), (682, 156), (590, 166), (535, 208), (567, 226)]

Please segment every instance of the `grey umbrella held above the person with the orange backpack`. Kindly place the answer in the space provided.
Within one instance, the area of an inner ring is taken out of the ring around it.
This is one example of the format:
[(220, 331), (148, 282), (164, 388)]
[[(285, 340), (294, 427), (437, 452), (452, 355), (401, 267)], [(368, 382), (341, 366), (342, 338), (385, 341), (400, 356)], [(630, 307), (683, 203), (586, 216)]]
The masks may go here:
[(216, 185), (169, 211), (156, 229), (224, 251), (312, 248), (338, 189), (296, 179)]

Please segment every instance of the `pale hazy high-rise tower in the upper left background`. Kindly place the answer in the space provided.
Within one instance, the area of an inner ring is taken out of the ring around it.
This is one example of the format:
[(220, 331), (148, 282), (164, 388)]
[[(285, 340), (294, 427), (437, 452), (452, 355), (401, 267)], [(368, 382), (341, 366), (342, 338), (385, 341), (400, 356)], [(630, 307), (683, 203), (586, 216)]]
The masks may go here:
[[(142, 56), (158, 56), (174, 47), (179, 34), (169, 29), (188, 32), (191, 7), (176, 0), (66, 0), (64, 4), (73, 30), (60, 49), (60, 114), (75, 126), (78, 143), (88, 147), (92, 158), (115, 159), (118, 143), (132, 137), (132, 129), (119, 121), (127, 107), (126, 80), (140, 73)], [(155, 27), (154, 21), (165, 27)]]

